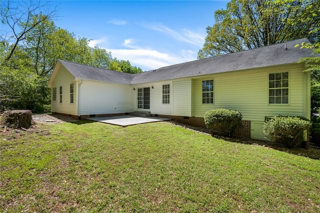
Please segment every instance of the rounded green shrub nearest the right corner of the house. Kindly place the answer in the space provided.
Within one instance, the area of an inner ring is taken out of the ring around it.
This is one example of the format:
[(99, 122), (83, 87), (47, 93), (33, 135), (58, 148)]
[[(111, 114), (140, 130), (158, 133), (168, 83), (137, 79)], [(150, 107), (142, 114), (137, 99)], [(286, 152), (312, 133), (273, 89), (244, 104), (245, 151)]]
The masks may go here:
[(311, 127), (311, 122), (301, 117), (266, 117), (263, 134), (272, 141), (280, 141), (285, 147), (293, 148), (304, 140), (303, 132)]

